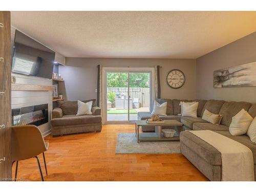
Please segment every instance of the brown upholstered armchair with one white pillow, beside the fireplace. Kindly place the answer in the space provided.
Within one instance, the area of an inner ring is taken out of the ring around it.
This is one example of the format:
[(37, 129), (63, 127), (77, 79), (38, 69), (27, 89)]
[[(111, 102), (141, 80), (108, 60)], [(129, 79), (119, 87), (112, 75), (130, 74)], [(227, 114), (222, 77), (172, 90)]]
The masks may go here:
[[(95, 99), (83, 102), (93, 101)], [(92, 115), (76, 116), (78, 110), (77, 101), (59, 101), (58, 107), (52, 110), (52, 135), (65, 135), (82, 132), (101, 132), (101, 109), (92, 107)]]

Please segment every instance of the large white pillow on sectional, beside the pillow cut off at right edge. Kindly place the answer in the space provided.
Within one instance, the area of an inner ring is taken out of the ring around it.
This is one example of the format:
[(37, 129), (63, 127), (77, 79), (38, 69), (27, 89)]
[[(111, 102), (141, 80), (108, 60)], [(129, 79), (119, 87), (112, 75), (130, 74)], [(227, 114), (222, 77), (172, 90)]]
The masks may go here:
[(232, 117), (229, 125), (229, 132), (231, 135), (243, 135), (247, 132), (253, 118), (247, 111), (242, 109), (237, 115)]

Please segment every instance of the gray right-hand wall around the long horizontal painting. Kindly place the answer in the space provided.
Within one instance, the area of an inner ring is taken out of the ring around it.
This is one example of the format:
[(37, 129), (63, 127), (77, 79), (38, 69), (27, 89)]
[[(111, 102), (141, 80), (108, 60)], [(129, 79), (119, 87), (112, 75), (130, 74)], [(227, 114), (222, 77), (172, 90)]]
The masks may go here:
[(256, 103), (256, 87), (213, 88), (215, 70), (253, 61), (256, 61), (256, 32), (197, 58), (197, 98)]

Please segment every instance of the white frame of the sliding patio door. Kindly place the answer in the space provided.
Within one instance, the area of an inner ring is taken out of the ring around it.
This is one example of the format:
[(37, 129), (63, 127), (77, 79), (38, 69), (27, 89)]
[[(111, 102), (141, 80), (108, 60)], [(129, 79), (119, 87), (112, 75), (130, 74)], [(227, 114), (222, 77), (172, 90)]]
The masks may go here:
[[(106, 101), (107, 101), (107, 86), (106, 86), (106, 72), (149, 72), (151, 73), (150, 79), (150, 94), (151, 94), (151, 101), (150, 101), (150, 111), (153, 106), (154, 98), (155, 98), (155, 68), (154, 67), (102, 67), (102, 123), (103, 124), (130, 124), (134, 123), (134, 121), (107, 121), (107, 108), (106, 108)], [(129, 82), (129, 75), (128, 75), (128, 82)], [(129, 95), (129, 83), (128, 83), (128, 95)], [(128, 99), (128, 106), (130, 100)], [(129, 108), (128, 108), (129, 114)], [(127, 115), (128, 115), (127, 114)]]

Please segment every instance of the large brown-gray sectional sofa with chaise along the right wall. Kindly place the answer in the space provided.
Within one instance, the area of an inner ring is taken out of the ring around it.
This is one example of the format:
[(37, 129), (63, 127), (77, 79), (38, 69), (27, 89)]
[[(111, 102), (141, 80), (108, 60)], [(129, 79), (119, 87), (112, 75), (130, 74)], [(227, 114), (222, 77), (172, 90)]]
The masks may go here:
[[(163, 119), (176, 119), (184, 124), (185, 130), (211, 130), (221, 135), (238, 141), (250, 148), (254, 160), (254, 175), (256, 179), (256, 144), (253, 143), (247, 135), (232, 136), (229, 133), (229, 125), (232, 117), (242, 109), (246, 110), (253, 118), (256, 116), (256, 104), (249, 102), (234, 102), (223, 100), (179, 100), (179, 99), (156, 99), (159, 103), (167, 101), (167, 116), (160, 116)], [(193, 102), (198, 101), (198, 118), (181, 117), (180, 101)], [(211, 124), (202, 120), (203, 112), (207, 109), (214, 114), (222, 115), (220, 125)], [(149, 112), (139, 112), (138, 119), (146, 119), (151, 115)], [(143, 131), (153, 131), (154, 127)], [(181, 132), (180, 134), (181, 153), (193, 163), (209, 180), (221, 181), (221, 154), (213, 146), (206, 143), (190, 132)]]

